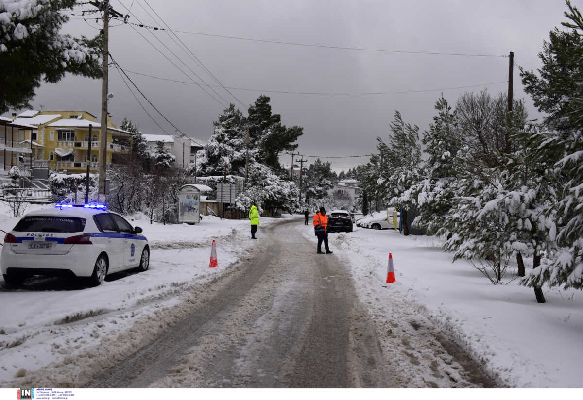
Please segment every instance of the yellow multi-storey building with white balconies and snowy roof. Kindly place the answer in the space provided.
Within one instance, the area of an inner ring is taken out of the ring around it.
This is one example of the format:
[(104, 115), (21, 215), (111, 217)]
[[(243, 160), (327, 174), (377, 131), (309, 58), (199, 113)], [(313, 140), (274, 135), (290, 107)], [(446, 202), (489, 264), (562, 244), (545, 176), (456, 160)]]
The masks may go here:
[[(21, 169), (31, 166), (33, 169), (52, 169), (78, 174), (87, 170), (89, 162), (90, 171), (98, 172), (101, 125), (96, 122), (96, 116), (90, 112), (27, 110), (21, 112), (14, 123), (37, 127), (36, 130), (19, 129), (18, 139), (15, 139), (15, 142), (30, 147), (32, 152), (31, 158), (20, 158)], [(131, 132), (115, 128), (111, 123), (111, 116), (108, 115), (107, 163), (111, 162), (115, 153), (129, 153), (129, 146), (114, 142), (129, 143), (131, 137)], [(90, 157), (87, 157), (89, 140), (92, 148)]]

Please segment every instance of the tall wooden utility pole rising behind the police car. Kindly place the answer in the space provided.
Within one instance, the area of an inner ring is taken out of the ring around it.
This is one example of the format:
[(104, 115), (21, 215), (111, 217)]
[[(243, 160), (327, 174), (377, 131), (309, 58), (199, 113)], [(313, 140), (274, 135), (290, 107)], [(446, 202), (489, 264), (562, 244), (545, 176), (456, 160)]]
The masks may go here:
[[(103, 11), (103, 79), (101, 80), (101, 136), (99, 142), (99, 201), (105, 201), (107, 174), (107, 80), (109, 63), (109, 18), (124, 17), (110, 7), (109, 0), (90, 1), (91, 5)], [(91, 139), (90, 139), (91, 140)]]

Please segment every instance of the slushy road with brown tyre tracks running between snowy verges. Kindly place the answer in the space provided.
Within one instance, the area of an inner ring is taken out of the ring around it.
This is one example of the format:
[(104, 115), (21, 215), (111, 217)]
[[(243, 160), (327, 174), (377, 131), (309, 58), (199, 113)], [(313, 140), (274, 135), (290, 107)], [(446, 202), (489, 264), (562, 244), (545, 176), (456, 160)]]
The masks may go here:
[(392, 316), (370, 316), (346, 261), (315, 254), (299, 223), (242, 239), (254, 257), (192, 292), (177, 306), (180, 323), (88, 386), (492, 385), (398, 293)]

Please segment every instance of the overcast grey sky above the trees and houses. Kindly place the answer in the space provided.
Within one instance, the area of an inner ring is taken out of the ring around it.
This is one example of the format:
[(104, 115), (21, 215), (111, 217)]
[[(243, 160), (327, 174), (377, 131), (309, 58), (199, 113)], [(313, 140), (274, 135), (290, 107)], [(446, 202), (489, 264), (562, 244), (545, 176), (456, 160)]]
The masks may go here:
[[(549, 31), (565, 20), (563, 0), (443, 0), (418, 1), (323, 1), (323, 0), (111, 0), (121, 13), (131, 6), (134, 16), (159, 26), (147, 15), (146, 1), (173, 30), (193, 31), (294, 43), (338, 47), (364, 47), (398, 51), (446, 52), (508, 55), (526, 69), (539, 67), (538, 52)], [(575, 0), (574, 5), (581, 6)], [(142, 8), (143, 7), (143, 8)], [(93, 9), (79, 6), (78, 9)], [(95, 14), (94, 14), (95, 15)], [(153, 15), (153, 13), (152, 13)], [(73, 17), (75, 18), (75, 17)], [(72, 19), (65, 31), (94, 36), (101, 21), (87, 17)], [(148, 44), (136, 30), (168, 55), (192, 79), (200, 82), (174, 58), (152, 31), (117, 21), (111, 23), (110, 52), (122, 68), (148, 75), (189, 81), (166, 58)], [(153, 31), (189, 68), (206, 83), (215, 84), (185, 51), (178, 49), (166, 32)], [(182, 41), (224, 86), (258, 90), (324, 93), (415, 91), (505, 82), (508, 58), (424, 54), (399, 54), (320, 47), (259, 43), (177, 33)], [(198, 86), (128, 75), (154, 105), (189, 136), (208, 139), (212, 122), (222, 105)], [(514, 88), (525, 98), (531, 116), (538, 116), (531, 99), (522, 91), (518, 68), (514, 68)], [(507, 89), (507, 84), (488, 86), (491, 94)], [(161, 133), (129, 93), (120, 75), (110, 69), (110, 112), (114, 123), (127, 116), (144, 133)], [(482, 87), (444, 90), (454, 105), (464, 91)], [(272, 99), (273, 112), (282, 115), (288, 126), (304, 127), (298, 140), (299, 151), (307, 155), (360, 155), (375, 151), (376, 137), (387, 137), (395, 109), (406, 122), (429, 128), (433, 105), (440, 91), (381, 95), (304, 95), (261, 91), (231, 90), (245, 104), (243, 108), (229, 93), (215, 89), (225, 100), (234, 102), (247, 114), (247, 107), (262, 93)], [(100, 114), (101, 83), (83, 77), (67, 76), (58, 84), (37, 90), (34, 107), (45, 109), (86, 109)], [(213, 95), (215, 95), (213, 93)], [(139, 94), (138, 94), (139, 97)], [(215, 97), (217, 97), (215, 95)], [(146, 109), (160, 125), (174, 129), (141, 97)], [(220, 100), (220, 99), (219, 99)], [(282, 158), (289, 163), (290, 158)], [(313, 161), (314, 158), (308, 160)], [(366, 162), (367, 158), (331, 159), (336, 170)]]

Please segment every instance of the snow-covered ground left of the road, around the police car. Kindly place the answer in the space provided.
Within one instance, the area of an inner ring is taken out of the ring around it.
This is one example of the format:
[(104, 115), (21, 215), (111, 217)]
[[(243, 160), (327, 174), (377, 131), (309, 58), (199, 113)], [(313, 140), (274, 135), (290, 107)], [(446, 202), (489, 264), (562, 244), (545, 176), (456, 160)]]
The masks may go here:
[[(52, 206), (34, 205), (27, 212), (44, 207)], [(204, 217), (198, 225), (150, 225), (143, 214), (127, 218), (141, 226), (149, 240), (151, 258), (146, 272), (108, 275), (96, 288), (75, 286), (64, 278), (45, 278), (29, 279), (26, 288), (14, 290), (0, 277), (0, 387), (12, 387), (9, 382), (14, 378), (26, 380), (31, 371), (51, 362), (71, 362), (103, 338), (123, 338), (118, 335), (124, 331), (128, 332), (126, 339), (110, 346), (127, 351), (128, 346), (152, 338), (165, 327), (161, 310), (179, 302), (187, 289), (224, 274), (247, 254), (241, 244), (251, 243), (247, 220)], [(8, 206), (0, 201), (0, 229), (9, 231), (18, 220), (10, 217)], [(261, 226), (273, 221), (261, 218), (259, 238)], [(211, 269), (213, 239), (218, 266)], [(142, 324), (142, 331), (132, 331), (141, 317), (152, 323)], [(66, 386), (67, 379), (57, 377), (54, 382)]]

